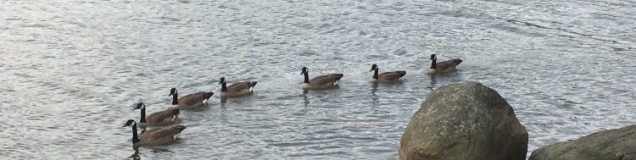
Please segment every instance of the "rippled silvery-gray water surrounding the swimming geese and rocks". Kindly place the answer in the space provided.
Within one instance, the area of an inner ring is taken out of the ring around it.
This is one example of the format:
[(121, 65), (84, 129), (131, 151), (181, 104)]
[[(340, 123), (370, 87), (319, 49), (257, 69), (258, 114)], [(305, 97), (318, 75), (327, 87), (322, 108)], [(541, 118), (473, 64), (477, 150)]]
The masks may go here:
[[(635, 123), (633, 0), (0, 4), (3, 159), (391, 159), (431, 89), (463, 81), (508, 100), (529, 153)], [(464, 63), (429, 77), (432, 53)], [(405, 82), (369, 84), (373, 63)], [(304, 95), (302, 66), (345, 77)], [(223, 104), (220, 77), (259, 83)], [(162, 110), (171, 87), (217, 95), (135, 153), (131, 105)]]

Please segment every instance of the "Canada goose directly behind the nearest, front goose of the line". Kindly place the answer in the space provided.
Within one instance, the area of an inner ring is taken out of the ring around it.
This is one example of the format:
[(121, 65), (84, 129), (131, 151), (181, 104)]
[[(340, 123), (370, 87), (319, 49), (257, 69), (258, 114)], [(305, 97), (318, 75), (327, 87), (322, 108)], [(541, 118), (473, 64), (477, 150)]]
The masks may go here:
[(141, 109), (140, 126), (162, 126), (172, 124), (179, 118), (179, 109), (167, 109), (146, 116), (146, 104), (137, 103), (134, 109)]

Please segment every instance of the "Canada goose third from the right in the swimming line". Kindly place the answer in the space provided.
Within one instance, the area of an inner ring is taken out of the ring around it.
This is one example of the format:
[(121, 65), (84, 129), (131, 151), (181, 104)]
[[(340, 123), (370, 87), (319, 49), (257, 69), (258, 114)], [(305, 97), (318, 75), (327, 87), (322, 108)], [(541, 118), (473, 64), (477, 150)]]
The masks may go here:
[(333, 73), (317, 76), (310, 80), (307, 67), (303, 67), (303, 70), (300, 72), (300, 74), (305, 75), (305, 81), (303, 82), (302, 88), (315, 90), (334, 88), (338, 86), (338, 82), (344, 76), (341, 73)]

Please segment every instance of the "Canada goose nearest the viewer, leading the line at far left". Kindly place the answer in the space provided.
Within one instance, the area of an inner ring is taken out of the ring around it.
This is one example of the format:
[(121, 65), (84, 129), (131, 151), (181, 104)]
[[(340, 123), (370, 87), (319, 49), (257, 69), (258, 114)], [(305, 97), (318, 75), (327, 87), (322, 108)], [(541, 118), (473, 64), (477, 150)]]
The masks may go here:
[(132, 143), (134, 148), (139, 146), (155, 146), (163, 145), (179, 139), (181, 131), (186, 129), (185, 126), (178, 125), (173, 127), (155, 128), (146, 131), (141, 136), (137, 136), (137, 123), (135, 120), (128, 120), (122, 127), (131, 127), (133, 129)]

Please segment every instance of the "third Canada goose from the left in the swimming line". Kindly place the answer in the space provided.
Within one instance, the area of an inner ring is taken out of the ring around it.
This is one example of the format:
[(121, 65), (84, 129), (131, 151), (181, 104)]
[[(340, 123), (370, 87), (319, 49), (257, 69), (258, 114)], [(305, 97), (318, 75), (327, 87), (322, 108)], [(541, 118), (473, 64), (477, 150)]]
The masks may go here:
[(214, 92), (197, 92), (178, 98), (179, 91), (176, 88), (172, 88), (169, 94), (169, 96), (172, 96), (172, 106), (170, 108), (188, 109), (204, 106), (208, 104), (208, 100), (212, 95), (214, 95)]

